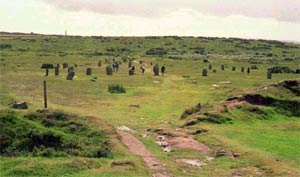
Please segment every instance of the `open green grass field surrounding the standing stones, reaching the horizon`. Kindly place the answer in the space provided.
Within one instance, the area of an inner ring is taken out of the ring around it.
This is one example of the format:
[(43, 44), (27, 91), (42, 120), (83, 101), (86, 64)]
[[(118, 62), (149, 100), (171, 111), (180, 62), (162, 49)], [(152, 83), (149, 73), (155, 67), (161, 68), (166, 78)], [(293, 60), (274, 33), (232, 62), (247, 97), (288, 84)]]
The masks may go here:
[[(149, 55), (151, 48), (163, 53)], [(106, 76), (104, 60), (134, 57), (137, 74), (128, 76), (128, 64)], [(212, 64), (213, 73), (202, 77), (202, 69)], [(193, 37), (61, 37), (61, 36), (0, 36), (0, 109), (7, 110), (15, 100), (26, 101), (28, 110), (16, 110), (20, 115), (43, 108), (43, 81), (47, 81), (48, 108), (90, 117), (85, 123), (106, 132), (113, 142), (113, 156), (34, 157), (31, 155), (1, 156), (0, 176), (151, 176), (142, 159), (133, 155), (114, 132), (118, 126), (135, 130), (146, 147), (174, 176), (297, 176), (300, 165), (300, 119), (284, 115), (275, 107), (262, 108), (266, 116), (232, 109), (224, 115), (233, 123), (201, 122), (187, 130), (205, 128), (207, 133), (195, 138), (212, 149), (219, 148), (241, 154), (238, 159), (215, 158), (202, 168), (175, 162), (176, 157), (197, 158), (200, 152), (178, 150), (163, 152), (155, 136), (140, 136), (147, 129), (174, 130), (184, 121), (182, 112), (197, 103), (215, 105), (229, 97), (286, 79), (299, 79), (299, 74), (273, 74), (267, 79), (267, 69), (287, 66), (300, 69), (300, 45), (277, 41), (241, 40)], [(102, 60), (102, 66), (97, 63)], [(146, 72), (139, 70), (143, 61)], [(165, 65), (164, 76), (153, 76), (150, 63)], [(60, 69), (48, 77), (40, 69), (43, 63), (77, 64), (76, 77), (66, 80), (67, 70)], [(225, 71), (221, 65), (225, 64)], [(258, 70), (242, 73), (240, 67), (257, 65)], [(19, 66), (18, 66), (19, 65)], [(236, 71), (231, 67), (236, 66)], [(92, 68), (92, 76), (85, 74)], [(97, 77), (96, 81), (91, 81)], [(227, 83), (226, 83), (227, 82)], [(111, 84), (119, 84), (126, 93), (111, 94)], [(214, 86), (214, 85), (217, 85)], [(266, 91), (267, 92), (267, 91)], [(288, 100), (300, 100), (289, 92), (267, 92)], [(138, 105), (131, 106), (131, 105)], [(130, 160), (135, 166), (111, 167), (114, 161)]]

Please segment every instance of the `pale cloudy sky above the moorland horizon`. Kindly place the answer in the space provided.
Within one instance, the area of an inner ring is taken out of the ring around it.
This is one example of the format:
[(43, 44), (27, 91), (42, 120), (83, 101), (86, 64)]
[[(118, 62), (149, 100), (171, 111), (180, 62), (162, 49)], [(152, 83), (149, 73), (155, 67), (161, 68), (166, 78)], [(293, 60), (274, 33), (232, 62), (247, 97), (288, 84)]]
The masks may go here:
[(300, 41), (300, 0), (0, 0), (0, 31)]

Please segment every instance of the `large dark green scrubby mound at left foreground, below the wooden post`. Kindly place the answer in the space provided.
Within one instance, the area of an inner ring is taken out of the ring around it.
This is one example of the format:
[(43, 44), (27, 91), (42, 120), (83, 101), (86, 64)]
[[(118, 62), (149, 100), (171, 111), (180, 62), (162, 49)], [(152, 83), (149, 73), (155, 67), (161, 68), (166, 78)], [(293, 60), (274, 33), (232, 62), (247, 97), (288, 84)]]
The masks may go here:
[(0, 155), (111, 157), (111, 144), (104, 133), (79, 118), (60, 111), (43, 110), (25, 116), (1, 111)]

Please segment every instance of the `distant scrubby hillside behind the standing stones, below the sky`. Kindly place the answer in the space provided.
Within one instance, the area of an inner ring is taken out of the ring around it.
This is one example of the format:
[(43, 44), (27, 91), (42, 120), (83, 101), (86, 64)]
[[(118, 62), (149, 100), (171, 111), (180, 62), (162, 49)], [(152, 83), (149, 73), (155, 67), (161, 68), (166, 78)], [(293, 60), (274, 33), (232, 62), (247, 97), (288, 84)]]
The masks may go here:
[[(18, 37), (17, 37), (18, 36)], [(256, 60), (300, 60), (300, 45), (269, 40), (246, 40), (212, 37), (81, 37), (0, 33), (0, 49), (4, 55), (38, 57), (160, 57), (175, 60), (228, 58)]]

